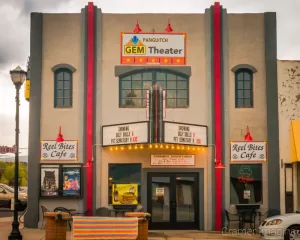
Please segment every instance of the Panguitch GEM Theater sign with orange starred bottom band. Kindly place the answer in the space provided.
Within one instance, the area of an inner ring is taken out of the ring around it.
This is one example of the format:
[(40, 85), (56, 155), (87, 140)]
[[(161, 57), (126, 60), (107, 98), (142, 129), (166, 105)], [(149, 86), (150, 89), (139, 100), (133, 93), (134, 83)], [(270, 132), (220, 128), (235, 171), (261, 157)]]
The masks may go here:
[(121, 33), (121, 64), (186, 64), (185, 33)]

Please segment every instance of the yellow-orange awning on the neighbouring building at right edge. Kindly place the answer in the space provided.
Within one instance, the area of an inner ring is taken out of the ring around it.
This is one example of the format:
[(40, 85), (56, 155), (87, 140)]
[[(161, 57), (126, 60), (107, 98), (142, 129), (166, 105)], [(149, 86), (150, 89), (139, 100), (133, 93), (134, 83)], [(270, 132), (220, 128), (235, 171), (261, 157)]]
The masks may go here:
[(291, 121), (291, 160), (300, 162), (300, 121)]

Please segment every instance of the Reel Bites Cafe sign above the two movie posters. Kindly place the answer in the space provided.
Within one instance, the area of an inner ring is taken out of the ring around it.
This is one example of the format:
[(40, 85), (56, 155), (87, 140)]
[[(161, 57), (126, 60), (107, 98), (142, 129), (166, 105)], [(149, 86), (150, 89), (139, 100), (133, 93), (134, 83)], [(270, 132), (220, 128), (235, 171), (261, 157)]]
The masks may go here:
[(78, 141), (41, 141), (41, 160), (78, 160)]

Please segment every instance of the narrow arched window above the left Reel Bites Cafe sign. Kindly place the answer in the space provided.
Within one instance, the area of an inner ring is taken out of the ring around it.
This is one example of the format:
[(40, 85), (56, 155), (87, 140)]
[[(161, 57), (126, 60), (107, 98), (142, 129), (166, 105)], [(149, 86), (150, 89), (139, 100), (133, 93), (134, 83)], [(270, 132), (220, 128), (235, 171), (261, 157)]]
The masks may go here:
[(72, 107), (72, 75), (75, 69), (70, 65), (60, 64), (53, 67), (52, 70), (54, 72), (54, 107)]

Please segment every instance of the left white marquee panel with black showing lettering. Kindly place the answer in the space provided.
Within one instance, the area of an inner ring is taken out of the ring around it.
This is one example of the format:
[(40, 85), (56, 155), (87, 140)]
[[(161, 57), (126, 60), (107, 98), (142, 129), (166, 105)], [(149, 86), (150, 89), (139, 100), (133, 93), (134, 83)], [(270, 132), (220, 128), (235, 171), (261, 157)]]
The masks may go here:
[(148, 132), (148, 122), (103, 126), (102, 146), (148, 143)]

